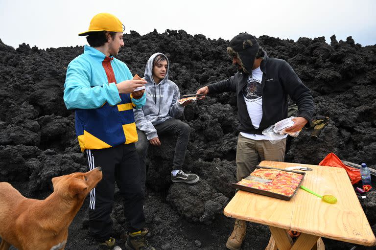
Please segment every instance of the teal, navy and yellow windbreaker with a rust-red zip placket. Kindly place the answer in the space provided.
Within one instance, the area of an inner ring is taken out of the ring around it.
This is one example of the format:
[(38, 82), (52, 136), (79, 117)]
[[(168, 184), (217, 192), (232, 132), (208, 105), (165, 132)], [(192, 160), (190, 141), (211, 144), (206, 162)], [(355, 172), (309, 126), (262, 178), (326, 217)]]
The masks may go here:
[(119, 94), (116, 87), (116, 83), (132, 78), (123, 62), (90, 46), (71, 61), (64, 102), (69, 110), (75, 109), (76, 135), (82, 151), (138, 140), (130, 94)]

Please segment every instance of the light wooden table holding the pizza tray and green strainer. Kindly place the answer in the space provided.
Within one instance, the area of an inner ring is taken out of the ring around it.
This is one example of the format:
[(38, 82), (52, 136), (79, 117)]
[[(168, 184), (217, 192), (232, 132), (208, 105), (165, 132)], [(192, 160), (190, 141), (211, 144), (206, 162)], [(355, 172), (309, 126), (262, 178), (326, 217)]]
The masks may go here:
[[(239, 190), (225, 207), (228, 217), (268, 225), (272, 234), (265, 250), (325, 250), (321, 237), (375, 246), (376, 239), (342, 168), (277, 161), (261, 161), (260, 166), (286, 168), (306, 166), (304, 186), (318, 194), (334, 195), (328, 204), (299, 189), (290, 201)], [(286, 230), (302, 232), (294, 243)]]

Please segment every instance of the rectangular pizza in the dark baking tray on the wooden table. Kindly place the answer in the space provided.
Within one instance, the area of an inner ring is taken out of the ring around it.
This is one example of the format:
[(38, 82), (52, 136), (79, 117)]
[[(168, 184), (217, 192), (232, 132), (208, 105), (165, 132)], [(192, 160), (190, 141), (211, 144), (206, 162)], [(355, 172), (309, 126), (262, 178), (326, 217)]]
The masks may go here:
[(303, 175), (281, 171), (278, 169), (259, 168), (238, 185), (257, 188), (259, 190), (291, 196), (295, 192)]

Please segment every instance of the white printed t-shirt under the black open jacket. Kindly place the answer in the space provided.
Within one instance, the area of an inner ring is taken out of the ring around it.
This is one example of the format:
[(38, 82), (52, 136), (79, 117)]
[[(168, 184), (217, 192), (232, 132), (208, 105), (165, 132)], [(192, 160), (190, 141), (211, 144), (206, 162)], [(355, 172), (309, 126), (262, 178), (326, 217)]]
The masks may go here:
[[(260, 67), (252, 70), (252, 76), (248, 77), (247, 85), (244, 86), (242, 93), (245, 104), (247, 105), (248, 115), (251, 118), (252, 125), (258, 129), (262, 119), (262, 71)], [(244, 137), (254, 140), (269, 140), (268, 136), (256, 135), (240, 132)], [(287, 135), (285, 136), (287, 137)], [(284, 138), (284, 137), (283, 137)]]

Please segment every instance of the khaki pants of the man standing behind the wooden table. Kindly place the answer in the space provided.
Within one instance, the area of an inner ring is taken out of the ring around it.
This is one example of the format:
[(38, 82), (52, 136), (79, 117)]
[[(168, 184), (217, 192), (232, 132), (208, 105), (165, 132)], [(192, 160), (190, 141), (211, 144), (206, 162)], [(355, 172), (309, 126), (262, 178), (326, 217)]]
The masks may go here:
[(236, 178), (249, 176), (262, 160), (283, 161), (286, 138), (272, 144), (269, 140), (253, 140), (240, 135), (237, 138)]

